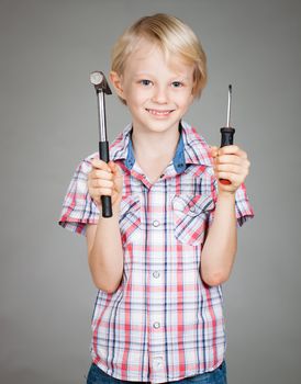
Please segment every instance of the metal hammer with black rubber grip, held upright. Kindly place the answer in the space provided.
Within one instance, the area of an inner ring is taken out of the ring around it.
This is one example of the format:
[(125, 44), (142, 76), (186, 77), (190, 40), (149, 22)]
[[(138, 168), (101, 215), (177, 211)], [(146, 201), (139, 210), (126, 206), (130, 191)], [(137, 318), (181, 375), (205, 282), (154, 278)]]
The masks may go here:
[[(107, 136), (107, 118), (104, 93), (112, 94), (104, 75), (97, 70), (90, 74), (90, 82), (94, 86), (98, 99), (98, 123), (99, 123), (99, 158), (109, 162), (109, 142)], [(102, 217), (112, 217), (111, 196), (101, 195)]]

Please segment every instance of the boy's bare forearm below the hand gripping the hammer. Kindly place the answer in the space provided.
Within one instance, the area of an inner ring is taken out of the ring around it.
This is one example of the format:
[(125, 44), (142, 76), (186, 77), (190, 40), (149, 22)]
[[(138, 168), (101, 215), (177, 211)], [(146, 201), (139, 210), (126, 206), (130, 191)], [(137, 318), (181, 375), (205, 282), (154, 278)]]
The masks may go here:
[(94, 284), (108, 293), (114, 292), (123, 274), (123, 249), (119, 227), (119, 210), (113, 216), (100, 216), (93, 241), (88, 251), (88, 262)]

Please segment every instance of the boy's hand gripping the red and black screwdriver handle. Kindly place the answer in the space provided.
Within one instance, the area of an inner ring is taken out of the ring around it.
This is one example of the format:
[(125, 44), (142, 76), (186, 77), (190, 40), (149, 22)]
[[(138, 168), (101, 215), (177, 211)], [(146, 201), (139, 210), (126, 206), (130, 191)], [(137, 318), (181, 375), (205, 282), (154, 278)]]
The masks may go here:
[(236, 145), (210, 149), (218, 180), (226, 179), (231, 182), (228, 185), (219, 182), (219, 192), (235, 193), (249, 172), (250, 162), (247, 154)]

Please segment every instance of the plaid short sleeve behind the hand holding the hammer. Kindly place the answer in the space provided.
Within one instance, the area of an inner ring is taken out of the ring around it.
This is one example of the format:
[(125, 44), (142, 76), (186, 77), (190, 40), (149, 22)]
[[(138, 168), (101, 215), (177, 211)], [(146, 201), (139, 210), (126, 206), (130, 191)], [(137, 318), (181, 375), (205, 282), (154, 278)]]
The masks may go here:
[(58, 222), (63, 228), (80, 235), (86, 235), (87, 224), (97, 224), (99, 219), (99, 210), (87, 187), (91, 158), (82, 160), (77, 167), (65, 195)]

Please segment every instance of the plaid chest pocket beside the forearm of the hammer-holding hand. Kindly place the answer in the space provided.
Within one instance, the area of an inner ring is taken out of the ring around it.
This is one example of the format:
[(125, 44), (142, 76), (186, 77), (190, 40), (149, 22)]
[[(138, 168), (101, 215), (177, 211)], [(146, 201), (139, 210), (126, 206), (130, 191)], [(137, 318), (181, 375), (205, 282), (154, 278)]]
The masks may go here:
[(140, 195), (123, 196), (120, 205), (120, 231), (123, 245), (140, 233), (141, 200)]

